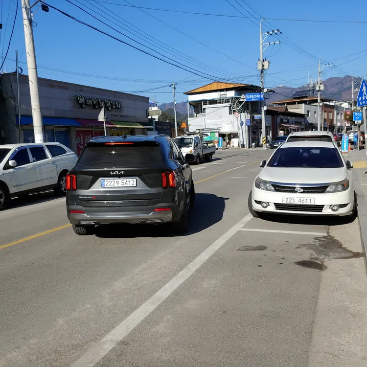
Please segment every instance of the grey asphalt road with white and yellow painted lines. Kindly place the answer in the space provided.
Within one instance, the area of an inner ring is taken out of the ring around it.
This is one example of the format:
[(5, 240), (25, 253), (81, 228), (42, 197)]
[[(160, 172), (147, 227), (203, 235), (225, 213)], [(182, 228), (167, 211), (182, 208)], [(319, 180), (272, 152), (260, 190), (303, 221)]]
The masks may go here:
[[(248, 194), (270, 154), (228, 149), (192, 166), (184, 236), (118, 226), (79, 237), (64, 198), (15, 201), (0, 213), (0, 366), (344, 366), (331, 351), (366, 333), (356, 317), (367, 325), (353, 308), (367, 286), (357, 223), (252, 218)], [(332, 306), (354, 336), (335, 342), (335, 328), (317, 326), (338, 292)], [(352, 357), (366, 366), (363, 347)]]

